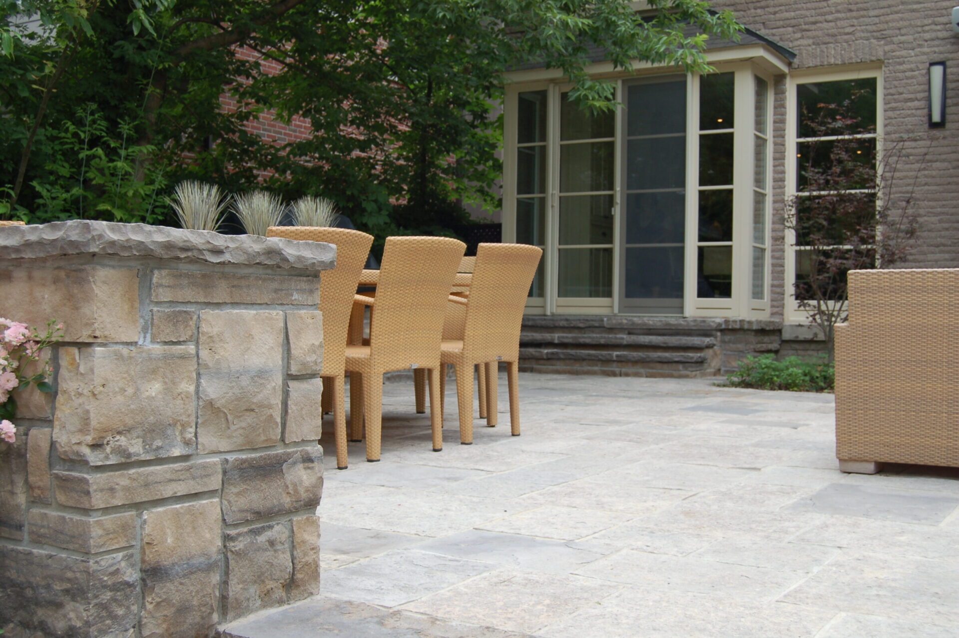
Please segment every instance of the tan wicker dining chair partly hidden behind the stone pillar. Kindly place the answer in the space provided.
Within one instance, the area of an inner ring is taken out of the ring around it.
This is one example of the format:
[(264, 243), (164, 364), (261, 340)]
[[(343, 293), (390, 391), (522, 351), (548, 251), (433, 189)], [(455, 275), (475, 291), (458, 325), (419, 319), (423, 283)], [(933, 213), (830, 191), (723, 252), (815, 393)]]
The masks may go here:
[[(346, 334), (353, 295), (356, 295), (357, 281), (360, 280), (373, 236), (346, 228), (270, 226), (267, 237), (326, 242), (337, 247), (337, 267), (323, 272), (319, 285), (319, 310), (323, 313), (323, 367), (320, 376), (332, 382), (332, 388), (323, 389), (324, 403), (330, 404), (333, 412), (337, 468), (346, 469), (346, 410), (343, 396)], [(322, 414), (319, 418), (322, 418)]]

